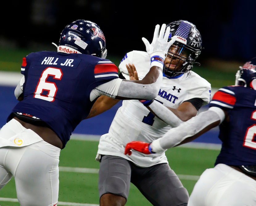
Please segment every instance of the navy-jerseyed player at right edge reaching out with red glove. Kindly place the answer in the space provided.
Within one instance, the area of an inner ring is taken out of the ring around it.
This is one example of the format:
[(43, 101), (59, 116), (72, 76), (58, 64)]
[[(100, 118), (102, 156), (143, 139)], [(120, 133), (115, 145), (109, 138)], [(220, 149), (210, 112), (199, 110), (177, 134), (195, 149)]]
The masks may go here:
[(219, 125), (222, 141), (214, 168), (206, 169), (197, 181), (188, 206), (256, 205), (256, 57), (236, 74), (235, 86), (219, 89), (209, 109), (169, 130), (152, 143), (129, 142), (132, 150), (159, 153), (192, 141)]

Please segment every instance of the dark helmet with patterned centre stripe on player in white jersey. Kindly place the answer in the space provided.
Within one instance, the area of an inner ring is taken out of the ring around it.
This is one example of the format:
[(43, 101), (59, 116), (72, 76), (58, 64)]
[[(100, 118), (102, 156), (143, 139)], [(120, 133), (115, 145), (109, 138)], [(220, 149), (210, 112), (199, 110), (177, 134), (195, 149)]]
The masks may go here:
[[(196, 58), (201, 54), (202, 38), (196, 26), (189, 21), (178, 20), (166, 25), (171, 28), (169, 40), (177, 36), (177, 40), (167, 52), (167, 58), (171, 59), (168, 67), (163, 67), (163, 73), (167, 76), (176, 76), (188, 72), (193, 68)], [(175, 65), (171, 68), (170, 65)], [(200, 64), (199, 64), (200, 65)]]

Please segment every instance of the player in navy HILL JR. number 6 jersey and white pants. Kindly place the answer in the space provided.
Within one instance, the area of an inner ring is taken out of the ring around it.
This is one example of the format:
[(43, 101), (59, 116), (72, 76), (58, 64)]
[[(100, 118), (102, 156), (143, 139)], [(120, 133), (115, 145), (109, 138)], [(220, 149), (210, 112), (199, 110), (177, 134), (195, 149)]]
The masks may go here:
[(97, 97), (156, 97), (163, 60), (175, 41), (168, 41), (165, 27), (163, 24), (159, 32), (156, 25), (151, 44), (142, 38), (151, 68), (140, 81), (118, 78), (117, 66), (105, 59), (105, 36), (91, 21), (76, 20), (67, 25), (56, 45), (58, 52), (34, 52), (24, 57), (24, 76), (14, 91), (21, 101), (0, 130), (0, 189), (14, 176), (21, 206), (57, 205), (60, 150), (89, 115)]

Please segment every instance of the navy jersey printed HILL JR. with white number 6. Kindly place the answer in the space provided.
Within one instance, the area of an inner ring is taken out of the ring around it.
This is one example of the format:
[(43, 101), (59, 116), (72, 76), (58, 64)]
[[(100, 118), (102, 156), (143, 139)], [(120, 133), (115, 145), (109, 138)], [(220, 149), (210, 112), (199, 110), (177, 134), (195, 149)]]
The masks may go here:
[[(24, 57), (21, 73), (25, 76), (24, 99), (12, 112), (43, 120), (59, 136), (63, 148), (90, 112), (94, 103), (90, 101), (90, 92), (118, 78), (117, 66), (107, 59), (50, 51)], [(12, 115), (7, 122), (11, 118)]]

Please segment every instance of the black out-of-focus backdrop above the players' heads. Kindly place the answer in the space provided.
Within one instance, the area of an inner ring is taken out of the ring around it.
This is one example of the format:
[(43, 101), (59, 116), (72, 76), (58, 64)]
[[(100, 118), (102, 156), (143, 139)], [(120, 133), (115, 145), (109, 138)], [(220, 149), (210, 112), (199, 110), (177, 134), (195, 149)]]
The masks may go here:
[(198, 60), (202, 64), (240, 63), (256, 56), (254, 0), (14, 0), (2, 2), (1, 7), (6, 12), (0, 14), (0, 46), (5, 48), (55, 50), (51, 42), (58, 43), (62, 29), (86, 19), (102, 29), (108, 55), (122, 59), (128, 51), (145, 50), (141, 38), (151, 41), (156, 24), (183, 19), (201, 33), (204, 50)]

